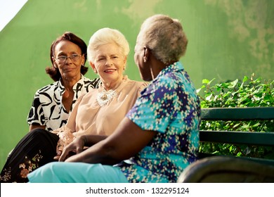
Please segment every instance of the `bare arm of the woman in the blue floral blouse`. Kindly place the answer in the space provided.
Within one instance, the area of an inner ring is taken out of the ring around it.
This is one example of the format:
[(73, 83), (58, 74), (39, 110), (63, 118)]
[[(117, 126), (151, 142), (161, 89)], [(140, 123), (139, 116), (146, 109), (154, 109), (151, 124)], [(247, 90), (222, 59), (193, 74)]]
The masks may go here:
[[(65, 160), (67, 153), (64, 150), (64, 155), (61, 155), (60, 160), (114, 165), (136, 155), (153, 139), (156, 133), (143, 130), (128, 117), (124, 117), (115, 132), (106, 139), (91, 146), (86, 151), (67, 158), (67, 160)], [(82, 140), (86, 140), (86, 143), (91, 140), (91, 136), (84, 136), (84, 138)]]

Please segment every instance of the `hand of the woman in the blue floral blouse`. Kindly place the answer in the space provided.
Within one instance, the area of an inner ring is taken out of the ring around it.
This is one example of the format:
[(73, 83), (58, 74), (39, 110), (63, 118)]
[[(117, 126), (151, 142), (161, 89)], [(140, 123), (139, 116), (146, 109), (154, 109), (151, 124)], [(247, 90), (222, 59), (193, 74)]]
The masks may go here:
[(74, 139), (74, 141), (72, 141), (72, 143), (65, 146), (62, 154), (60, 155), (59, 161), (65, 161), (70, 156), (81, 153), (84, 150), (84, 145), (85, 145), (84, 137), (83, 136), (77, 137), (76, 139)]

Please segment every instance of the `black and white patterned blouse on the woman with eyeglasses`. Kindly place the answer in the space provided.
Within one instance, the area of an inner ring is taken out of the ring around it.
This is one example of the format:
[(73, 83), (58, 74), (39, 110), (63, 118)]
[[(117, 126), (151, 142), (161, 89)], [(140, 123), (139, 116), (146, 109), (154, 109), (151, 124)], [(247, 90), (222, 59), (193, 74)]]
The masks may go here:
[[(91, 89), (98, 88), (99, 84), (100, 78), (90, 80), (82, 75), (81, 79), (73, 86), (74, 97), (70, 111), (79, 96), (86, 94)], [(29, 125), (46, 125), (48, 131), (65, 125), (70, 112), (65, 110), (62, 103), (64, 92), (65, 87), (63, 87), (60, 80), (37, 90), (32, 102), (32, 108), (27, 117), (27, 123)]]

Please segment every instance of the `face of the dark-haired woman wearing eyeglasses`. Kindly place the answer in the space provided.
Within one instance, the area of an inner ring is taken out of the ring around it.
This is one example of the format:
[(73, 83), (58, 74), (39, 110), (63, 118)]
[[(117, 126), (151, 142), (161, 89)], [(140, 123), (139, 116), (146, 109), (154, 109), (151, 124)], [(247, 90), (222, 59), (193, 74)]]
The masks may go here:
[[(71, 58), (67, 58), (67, 60), (63, 63), (60, 63), (56, 60), (60, 56), (74, 56), (79, 55), (80, 58), (72, 61)], [(77, 44), (74, 44), (70, 41), (63, 40), (56, 44), (55, 53), (53, 57), (54, 65), (59, 69), (60, 74), (63, 79), (80, 79), (81, 78), (81, 65), (84, 64), (84, 56), (81, 56), (81, 49)]]

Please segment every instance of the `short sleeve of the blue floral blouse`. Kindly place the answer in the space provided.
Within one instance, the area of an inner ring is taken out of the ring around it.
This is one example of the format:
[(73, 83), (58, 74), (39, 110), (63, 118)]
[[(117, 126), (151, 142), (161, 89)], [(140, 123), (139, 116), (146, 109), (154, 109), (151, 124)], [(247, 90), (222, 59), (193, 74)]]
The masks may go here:
[(164, 133), (174, 117), (175, 97), (173, 83), (165, 80), (153, 82), (144, 89), (126, 117), (141, 129)]

